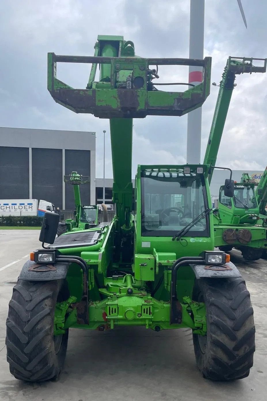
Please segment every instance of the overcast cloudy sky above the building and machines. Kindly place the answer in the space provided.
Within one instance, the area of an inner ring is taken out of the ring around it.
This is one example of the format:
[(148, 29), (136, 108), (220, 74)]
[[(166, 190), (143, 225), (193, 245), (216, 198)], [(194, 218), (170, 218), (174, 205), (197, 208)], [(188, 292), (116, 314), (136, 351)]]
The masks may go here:
[[(229, 55), (267, 57), (266, 1), (242, 0), (247, 30), (236, 0), (205, 3), (204, 56), (212, 56), (212, 82), (219, 83)], [(1, 0), (0, 126), (95, 131), (101, 177), (102, 131), (109, 133), (109, 122), (55, 103), (47, 91), (47, 52), (93, 55), (97, 35), (113, 34), (133, 41), (141, 57), (189, 57), (189, 12), (190, 0)], [(187, 77), (187, 70), (173, 67), (159, 72), (165, 82)], [(82, 88), (89, 67), (60, 64), (57, 75)], [(267, 164), (267, 75), (244, 74), (236, 83), (217, 165), (260, 171)], [(202, 107), (202, 160), (217, 94), (212, 86)], [(133, 172), (138, 163), (185, 162), (186, 125), (187, 116), (134, 120)], [(109, 135), (106, 143), (106, 176), (112, 177)]]

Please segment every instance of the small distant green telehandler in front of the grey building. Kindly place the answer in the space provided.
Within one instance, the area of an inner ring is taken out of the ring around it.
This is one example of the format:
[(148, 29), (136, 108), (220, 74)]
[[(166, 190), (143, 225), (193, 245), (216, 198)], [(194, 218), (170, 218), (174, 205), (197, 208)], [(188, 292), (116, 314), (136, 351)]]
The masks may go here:
[[(73, 171), (71, 175), (64, 176), (64, 181), (73, 185), (74, 200), (75, 200), (75, 215), (74, 219), (66, 219), (59, 222), (57, 228), (57, 236), (69, 231), (80, 231), (96, 227), (98, 225), (98, 206), (97, 205), (82, 205), (80, 185), (89, 184), (89, 177), (82, 176)], [(102, 205), (104, 211), (104, 221), (107, 221), (107, 208)]]

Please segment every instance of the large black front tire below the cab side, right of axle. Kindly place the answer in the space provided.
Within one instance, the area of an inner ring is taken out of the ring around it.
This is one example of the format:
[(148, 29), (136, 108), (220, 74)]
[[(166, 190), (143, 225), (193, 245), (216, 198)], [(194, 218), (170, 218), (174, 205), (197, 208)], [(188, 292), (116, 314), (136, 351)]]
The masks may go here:
[(255, 351), (250, 294), (242, 278), (198, 279), (193, 300), (206, 306), (207, 334), (193, 334), (196, 363), (214, 381), (249, 375)]

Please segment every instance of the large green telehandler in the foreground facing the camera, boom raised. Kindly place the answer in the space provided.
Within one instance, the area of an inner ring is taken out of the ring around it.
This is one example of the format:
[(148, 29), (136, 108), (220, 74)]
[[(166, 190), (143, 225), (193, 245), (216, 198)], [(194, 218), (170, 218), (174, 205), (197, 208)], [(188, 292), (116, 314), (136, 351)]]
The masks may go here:
[[(91, 63), (86, 89), (60, 81), (57, 62)], [(184, 92), (159, 91), (154, 79), (161, 65), (202, 66), (203, 81)], [(69, 328), (119, 326), (191, 328), (204, 377), (232, 381), (249, 375), (253, 308), (229, 255), (214, 251), (210, 165), (138, 165), (132, 211), (133, 118), (180, 116), (200, 107), (209, 95), (210, 68), (209, 57), (137, 57), (134, 43), (123, 36), (98, 36), (93, 57), (49, 53), (48, 89), (55, 101), (109, 119), (116, 214), (109, 223), (55, 240), (59, 215), (46, 213), (43, 247), (24, 264), (9, 304), (7, 360), (17, 379), (58, 377)], [(226, 180), (229, 196), (233, 185)]]

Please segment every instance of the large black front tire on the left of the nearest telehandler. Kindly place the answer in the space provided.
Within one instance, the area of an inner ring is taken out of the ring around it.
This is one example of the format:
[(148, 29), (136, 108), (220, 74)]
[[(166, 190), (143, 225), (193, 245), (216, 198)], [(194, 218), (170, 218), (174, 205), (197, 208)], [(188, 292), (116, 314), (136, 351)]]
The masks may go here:
[(10, 373), (16, 379), (45, 381), (63, 369), (69, 332), (54, 336), (55, 304), (66, 299), (63, 280), (27, 282), (13, 288), (6, 320)]

